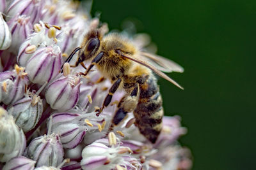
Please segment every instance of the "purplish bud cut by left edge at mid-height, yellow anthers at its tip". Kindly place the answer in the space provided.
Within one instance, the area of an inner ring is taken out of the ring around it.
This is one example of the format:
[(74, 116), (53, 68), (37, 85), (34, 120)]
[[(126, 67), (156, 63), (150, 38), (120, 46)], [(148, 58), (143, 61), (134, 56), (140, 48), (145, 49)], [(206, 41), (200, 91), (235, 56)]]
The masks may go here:
[(4, 104), (13, 104), (24, 96), (25, 86), (28, 84), (23, 67), (15, 66), (13, 71), (0, 73), (1, 101)]

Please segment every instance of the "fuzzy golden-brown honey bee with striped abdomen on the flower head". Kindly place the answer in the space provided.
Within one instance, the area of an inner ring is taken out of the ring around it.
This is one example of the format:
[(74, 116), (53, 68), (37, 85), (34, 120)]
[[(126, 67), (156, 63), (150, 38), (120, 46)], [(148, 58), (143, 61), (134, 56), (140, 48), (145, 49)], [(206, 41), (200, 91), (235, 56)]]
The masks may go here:
[[(102, 107), (96, 110), (97, 116), (109, 105), (118, 87), (122, 87), (126, 94), (118, 103), (111, 127), (122, 122), (127, 113), (133, 112), (134, 124), (140, 133), (151, 143), (156, 143), (163, 127), (164, 113), (157, 79), (152, 72), (183, 89), (162, 72), (182, 73), (183, 68), (172, 60), (143, 52), (120, 34), (111, 33), (104, 36), (100, 29), (89, 31), (81, 46), (71, 53), (66, 62), (69, 62), (77, 51), (79, 53), (75, 66), (81, 64), (86, 69), (85, 73), (80, 74), (86, 76), (92, 67), (96, 66), (104, 77), (113, 82)], [(86, 68), (83, 62), (88, 60), (91, 60), (91, 63)]]

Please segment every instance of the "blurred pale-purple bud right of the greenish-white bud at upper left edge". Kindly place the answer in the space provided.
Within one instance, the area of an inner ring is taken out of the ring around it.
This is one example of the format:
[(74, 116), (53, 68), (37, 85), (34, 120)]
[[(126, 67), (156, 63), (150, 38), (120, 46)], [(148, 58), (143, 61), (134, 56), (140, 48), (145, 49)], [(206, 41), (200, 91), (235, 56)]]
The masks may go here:
[(32, 33), (32, 24), (30, 17), (26, 15), (16, 15), (7, 22), (10, 31), (12, 32), (12, 45), (9, 51), (15, 54), (18, 53), (19, 46), (21, 43), (28, 38), (29, 34)]

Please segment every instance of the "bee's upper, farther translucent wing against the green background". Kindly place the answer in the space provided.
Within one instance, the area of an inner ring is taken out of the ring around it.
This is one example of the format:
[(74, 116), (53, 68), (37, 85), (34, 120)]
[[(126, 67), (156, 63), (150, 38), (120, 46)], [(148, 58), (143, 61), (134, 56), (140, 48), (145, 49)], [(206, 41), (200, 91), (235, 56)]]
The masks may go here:
[(164, 71), (167, 73), (173, 71), (182, 73), (184, 71), (183, 67), (179, 66), (179, 64), (156, 54), (140, 52), (140, 58), (143, 60), (147, 60), (149, 64), (156, 67), (160, 71)]

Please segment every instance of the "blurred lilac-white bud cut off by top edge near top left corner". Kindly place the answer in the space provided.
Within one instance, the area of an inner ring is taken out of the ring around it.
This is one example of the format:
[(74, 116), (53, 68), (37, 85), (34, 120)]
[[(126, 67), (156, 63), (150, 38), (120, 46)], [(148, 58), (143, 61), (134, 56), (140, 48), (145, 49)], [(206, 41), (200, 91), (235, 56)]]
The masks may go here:
[(31, 17), (31, 22), (38, 22), (43, 1), (33, 1), (33, 0), (17, 0), (13, 1), (8, 10), (6, 11), (7, 15), (10, 17), (18, 15), (27, 15)]

